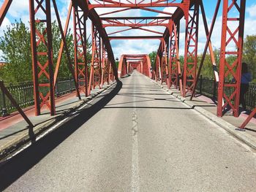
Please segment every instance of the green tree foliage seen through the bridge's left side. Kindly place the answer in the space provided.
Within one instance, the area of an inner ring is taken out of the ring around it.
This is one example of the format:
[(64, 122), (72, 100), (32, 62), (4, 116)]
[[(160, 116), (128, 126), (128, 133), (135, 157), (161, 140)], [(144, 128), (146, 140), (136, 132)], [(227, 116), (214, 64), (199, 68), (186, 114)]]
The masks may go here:
[[(37, 24), (39, 31), (45, 30), (45, 26), (42, 23)], [(52, 23), (52, 36), (53, 36), (53, 69), (55, 69), (59, 48), (61, 45), (61, 33), (59, 26), (54, 21)], [(91, 44), (86, 41), (87, 48), (91, 48)], [(74, 63), (74, 42), (70, 31), (67, 34), (67, 46), (72, 59), (72, 65)], [(38, 51), (45, 51), (45, 45), (42, 43), (38, 47)], [(11, 26), (7, 26), (7, 31), (4, 31), (4, 36), (0, 37), (0, 50), (2, 51), (2, 60), (8, 64), (0, 69), (0, 79), (4, 82), (24, 82), (31, 81), (32, 77), (32, 60), (31, 60), (31, 43), (30, 43), (30, 29), (21, 21), (15, 21)], [(87, 55), (88, 59), (91, 59), (91, 54)], [(40, 57), (40, 63), (45, 64), (46, 57)], [(61, 66), (59, 69), (58, 77), (69, 77), (69, 67), (67, 55), (62, 54)], [(42, 76), (43, 77), (43, 76)]]

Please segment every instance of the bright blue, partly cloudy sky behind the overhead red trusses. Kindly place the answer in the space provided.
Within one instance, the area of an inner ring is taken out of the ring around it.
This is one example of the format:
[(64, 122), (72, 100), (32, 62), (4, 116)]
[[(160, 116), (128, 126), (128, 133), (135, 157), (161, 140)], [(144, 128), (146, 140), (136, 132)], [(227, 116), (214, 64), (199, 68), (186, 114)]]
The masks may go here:
[[(64, 25), (66, 17), (67, 17), (67, 7), (69, 5), (69, 0), (56, 0), (59, 12), (61, 15), (61, 20)], [(92, 0), (91, 0), (92, 1)], [(125, 0), (123, 0), (125, 1)], [(147, 1), (147, 0), (146, 0)], [(177, 0), (179, 2), (180, 0)], [(239, 1), (239, 0), (238, 0)], [(0, 0), (0, 5), (3, 3), (3, 0)], [(212, 15), (214, 14), (214, 9), (217, 3), (217, 0), (203, 0), (204, 7), (206, 9), (206, 16), (208, 18), (208, 25), (211, 23)], [(158, 8), (159, 10), (167, 9), (167, 8)], [(167, 9), (168, 10), (168, 9)], [(105, 12), (106, 9), (97, 9), (97, 12), (102, 13)], [(142, 11), (140, 9), (132, 9), (123, 13), (118, 13), (118, 16), (159, 16), (158, 13), (151, 13)], [(108, 16), (108, 15), (107, 15)], [(236, 13), (234, 13), (233, 16), (236, 16)], [(54, 15), (53, 15), (53, 18)], [(222, 7), (219, 10), (219, 15), (217, 18), (217, 25), (215, 27), (215, 31), (212, 37), (212, 44), (215, 48), (219, 48), (220, 46), (220, 31), (221, 31), (221, 18), (222, 18)], [(12, 5), (10, 7), (9, 12), (7, 13), (7, 18), (5, 18), (4, 23), (1, 26), (0, 29), (0, 36), (3, 34), (3, 30), (6, 28), (7, 25), (10, 25), (10, 23), (13, 23), (14, 20), (23, 20), (24, 23), (27, 23), (29, 26), (29, 0), (20, 1), (20, 0), (13, 0)], [(200, 26), (202, 26), (202, 19), (200, 18)], [(184, 20), (181, 21), (181, 25), (184, 23)], [(88, 22), (88, 31), (87, 33), (90, 34), (91, 31), (91, 23)], [(70, 27), (72, 28), (72, 22), (70, 24)], [(184, 28), (184, 27), (183, 27)], [(152, 29), (152, 28), (151, 28)], [(155, 28), (159, 31), (164, 31), (164, 28)], [(182, 27), (181, 27), (181, 47), (180, 47), (180, 53), (182, 55), (184, 45), (182, 42), (184, 42), (184, 34), (182, 33)], [(108, 32), (116, 31), (116, 28), (107, 28)], [(247, 34), (256, 34), (256, 1), (255, 0), (247, 0), (246, 1), (246, 21), (245, 21), (245, 36)], [(118, 36), (122, 35), (147, 35), (150, 34), (145, 31), (140, 30), (133, 30), (133, 31), (127, 31), (124, 33), (116, 34)], [(206, 38), (205, 34), (203, 32), (203, 29), (200, 28), (199, 31), (199, 52), (202, 52)], [(121, 54), (127, 54), (127, 53), (150, 53), (153, 50), (157, 50), (159, 46), (158, 40), (126, 40), (126, 41), (120, 41), (115, 40), (111, 42), (111, 45), (113, 47), (113, 52), (115, 54), (115, 57), (120, 57)]]

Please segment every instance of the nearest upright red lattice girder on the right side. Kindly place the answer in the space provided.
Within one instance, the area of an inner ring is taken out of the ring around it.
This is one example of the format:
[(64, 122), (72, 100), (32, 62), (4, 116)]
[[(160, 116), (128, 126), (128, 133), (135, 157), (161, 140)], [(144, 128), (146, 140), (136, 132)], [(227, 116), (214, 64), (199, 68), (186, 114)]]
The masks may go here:
[[(234, 12), (238, 18), (231, 17)], [(222, 12), (222, 43), (219, 61), (219, 85), (218, 85), (218, 105), (217, 116), (223, 115), (223, 110), (227, 105), (233, 110), (233, 115), (238, 117), (239, 93), (241, 83), (241, 58), (243, 53), (244, 39), (244, 15), (245, 0), (228, 1), (223, 0)], [(236, 26), (234, 29), (233, 27)], [(226, 57), (233, 55), (236, 60), (227, 61)], [(234, 80), (234, 83), (228, 81)], [(232, 88), (231, 93), (225, 92), (225, 88)]]

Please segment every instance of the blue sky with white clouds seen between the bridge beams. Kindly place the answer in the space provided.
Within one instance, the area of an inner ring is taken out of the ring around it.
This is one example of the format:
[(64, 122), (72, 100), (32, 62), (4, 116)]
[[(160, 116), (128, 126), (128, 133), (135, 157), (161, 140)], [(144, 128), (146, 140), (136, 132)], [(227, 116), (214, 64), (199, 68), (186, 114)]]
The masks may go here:
[[(94, 3), (94, 0), (90, 0), (91, 3)], [(122, 0), (126, 1), (126, 0)], [(134, 1), (134, 0), (132, 0)], [(149, 0), (146, 0), (149, 1)], [(146, 2), (144, 1), (144, 2)], [(180, 2), (181, 0), (176, 0), (176, 2)], [(240, 1), (240, 0), (238, 0)], [(4, 0), (0, 0), (0, 6), (3, 4)], [(69, 0), (56, 0), (57, 6), (59, 8), (59, 14), (61, 16), (61, 23), (64, 27), (64, 23), (66, 22), (67, 18), (67, 10), (69, 7)], [(204, 7), (206, 9), (206, 17), (208, 22), (208, 27), (211, 25), (211, 20), (214, 14), (214, 9), (217, 4), (217, 0), (203, 0)], [(110, 8), (111, 9), (111, 8)], [(105, 8), (98, 8), (96, 9), (98, 14), (102, 14), (105, 12), (109, 12), (110, 9)], [(174, 7), (159, 7), (158, 10), (162, 10), (165, 12), (173, 12), (175, 10)], [(53, 9), (52, 9), (53, 10)], [(115, 9), (111, 9), (115, 10)], [(53, 12), (53, 11), (52, 11)], [(40, 14), (40, 13), (39, 13)], [(232, 17), (236, 17), (237, 12), (230, 12)], [(130, 9), (125, 12), (119, 12), (114, 15), (105, 15), (105, 17), (113, 17), (113, 16), (165, 16), (159, 13), (152, 13), (140, 9)], [(53, 13), (52, 19), (55, 20), (56, 16)], [(4, 18), (4, 21), (0, 28), (0, 37), (3, 35), (3, 31), (7, 28), (7, 26), (10, 26), (11, 23), (14, 23), (15, 20), (22, 20), (23, 23), (26, 23), (27, 26), (29, 26), (29, 0), (13, 0), (12, 5), (7, 12), (7, 17)], [(202, 53), (203, 49), (206, 44), (206, 34), (203, 29), (203, 20), (200, 14), (200, 25), (199, 25), (199, 38), (198, 38), (198, 52)], [(184, 39), (185, 39), (185, 20), (181, 19), (181, 32), (180, 32), (180, 55), (184, 54)], [(256, 34), (256, 1), (255, 0), (247, 0), (246, 1), (246, 19), (245, 19), (245, 28), (244, 28), (244, 37), (246, 35), (252, 35)], [(235, 28), (236, 22), (233, 23), (233, 27), (231, 29)], [(72, 22), (69, 24), (69, 28), (72, 28)], [(106, 28), (106, 31), (108, 33), (111, 33), (113, 31), (118, 31), (125, 28)], [(151, 27), (150, 29), (154, 29), (159, 32), (165, 31), (165, 28), (163, 27)], [(219, 9), (219, 14), (217, 17), (217, 21), (214, 27), (214, 33), (211, 37), (211, 42), (214, 48), (220, 47), (221, 42), (221, 31), (222, 31), (222, 7)], [(87, 34), (91, 34), (91, 22), (90, 20), (87, 22)], [(147, 31), (140, 31), (140, 30), (130, 30), (125, 31), (122, 33), (114, 34), (115, 36), (143, 36), (143, 35), (152, 35), (150, 32)], [(154, 50), (157, 50), (159, 47), (159, 40), (148, 40), (148, 39), (142, 39), (142, 40), (111, 40), (111, 45), (113, 48), (113, 53), (115, 55), (115, 58), (120, 58), (122, 54), (148, 54), (151, 53)], [(235, 45), (230, 45), (230, 49), (234, 47)], [(1, 53), (0, 53), (1, 55)]]

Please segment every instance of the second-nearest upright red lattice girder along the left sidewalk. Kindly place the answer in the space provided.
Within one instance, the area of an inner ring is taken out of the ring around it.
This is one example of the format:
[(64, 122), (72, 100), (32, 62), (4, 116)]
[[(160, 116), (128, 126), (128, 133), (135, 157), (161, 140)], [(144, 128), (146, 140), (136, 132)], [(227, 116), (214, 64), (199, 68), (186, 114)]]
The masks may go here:
[(75, 79), (78, 82), (79, 91), (90, 94), (88, 88), (88, 66), (86, 57), (86, 20), (88, 12), (83, 11), (73, 4), (73, 27), (75, 45)]

